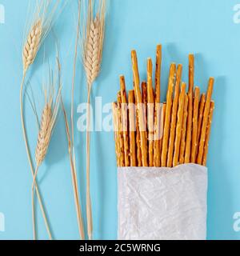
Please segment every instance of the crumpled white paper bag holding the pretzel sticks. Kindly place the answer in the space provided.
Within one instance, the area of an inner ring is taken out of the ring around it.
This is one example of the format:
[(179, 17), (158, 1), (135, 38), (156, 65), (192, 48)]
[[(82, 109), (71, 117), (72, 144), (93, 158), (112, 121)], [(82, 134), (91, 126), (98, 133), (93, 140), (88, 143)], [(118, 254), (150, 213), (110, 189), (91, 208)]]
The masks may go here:
[(206, 239), (207, 169), (118, 168), (118, 239)]

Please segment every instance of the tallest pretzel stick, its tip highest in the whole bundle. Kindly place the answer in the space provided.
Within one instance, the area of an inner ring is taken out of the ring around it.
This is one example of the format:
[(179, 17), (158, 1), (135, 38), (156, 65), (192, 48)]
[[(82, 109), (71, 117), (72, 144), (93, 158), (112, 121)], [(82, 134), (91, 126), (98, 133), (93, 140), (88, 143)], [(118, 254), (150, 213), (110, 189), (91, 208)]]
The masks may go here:
[(155, 70), (155, 108), (154, 108), (154, 166), (159, 167), (161, 154), (159, 151), (160, 142), (160, 96), (161, 96), (161, 66), (162, 66), (162, 46), (158, 45), (156, 50), (156, 70)]

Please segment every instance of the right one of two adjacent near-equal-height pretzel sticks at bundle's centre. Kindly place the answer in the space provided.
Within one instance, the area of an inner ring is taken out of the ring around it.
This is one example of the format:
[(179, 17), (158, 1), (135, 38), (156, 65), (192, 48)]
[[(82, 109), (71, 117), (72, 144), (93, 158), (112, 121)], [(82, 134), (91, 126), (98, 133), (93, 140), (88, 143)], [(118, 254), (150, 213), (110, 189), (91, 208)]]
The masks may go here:
[[(174, 140), (175, 140), (176, 122), (177, 122), (177, 114), (178, 114), (179, 86), (180, 86), (181, 78), (182, 78), (182, 65), (180, 64), (178, 65), (178, 69), (177, 69), (174, 102), (173, 102), (172, 117), (170, 122), (170, 139), (169, 139), (168, 154), (167, 154), (167, 167), (173, 166)], [(181, 129), (182, 129), (182, 126), (181, 126)]]

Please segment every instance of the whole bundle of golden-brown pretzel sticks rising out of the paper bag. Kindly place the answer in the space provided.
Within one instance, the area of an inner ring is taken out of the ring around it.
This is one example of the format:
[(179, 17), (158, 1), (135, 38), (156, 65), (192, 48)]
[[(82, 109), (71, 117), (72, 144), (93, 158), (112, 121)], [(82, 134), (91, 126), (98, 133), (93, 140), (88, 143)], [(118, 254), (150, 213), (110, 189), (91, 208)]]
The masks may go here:
[(155, 85), (153, 63), (147, 59), (146, 82), (141, 83), (138, 58), (131, 52), (134, 90), (126, 94), (120, 76), (117, 102), (112, 104), (118, 167), (173, 167), (184, 163), (206, 166), (214, 112), (214, 78), (206, 94), (194, 86), (194, 55), (189, 55), (189, 84), (182, 82), (182, 65), (170, 65), (166, 102), (160, 102), (162, 46), (157, 46)]

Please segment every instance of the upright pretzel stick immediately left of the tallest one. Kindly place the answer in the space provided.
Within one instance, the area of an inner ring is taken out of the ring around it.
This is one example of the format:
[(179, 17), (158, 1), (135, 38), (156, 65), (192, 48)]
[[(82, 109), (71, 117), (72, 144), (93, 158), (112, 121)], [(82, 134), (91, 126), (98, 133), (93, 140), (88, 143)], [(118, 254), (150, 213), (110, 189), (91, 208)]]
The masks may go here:
[(154, 88), (153, 63), (147, 59), (147, 128), (148, 128), (148, 162), (154, 166)]

